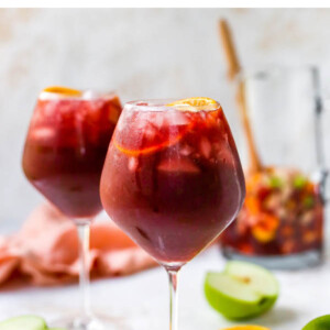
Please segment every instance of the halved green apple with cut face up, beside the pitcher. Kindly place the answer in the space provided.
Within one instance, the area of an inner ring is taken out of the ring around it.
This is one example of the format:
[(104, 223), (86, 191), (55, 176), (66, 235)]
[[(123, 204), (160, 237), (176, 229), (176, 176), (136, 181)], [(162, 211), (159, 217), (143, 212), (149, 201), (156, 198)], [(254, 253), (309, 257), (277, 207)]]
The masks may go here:
[(228, 319), (249, 319), (275, 304), (278, 283), (261, 266), (233, 261), (223, 272), (207, 274), (205, 294), (209, 304)]

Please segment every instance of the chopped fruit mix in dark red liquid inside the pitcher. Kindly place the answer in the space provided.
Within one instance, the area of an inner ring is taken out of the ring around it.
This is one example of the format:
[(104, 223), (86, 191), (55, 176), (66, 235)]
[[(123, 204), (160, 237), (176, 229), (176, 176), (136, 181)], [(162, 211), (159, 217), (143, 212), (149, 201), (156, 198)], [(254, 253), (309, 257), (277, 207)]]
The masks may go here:
[(323, 207), (318, 190), (295, 169), (270, 167), (248, 177), (245, 202), (222, 234), (222, 245), (251, 255), (321, 249)]

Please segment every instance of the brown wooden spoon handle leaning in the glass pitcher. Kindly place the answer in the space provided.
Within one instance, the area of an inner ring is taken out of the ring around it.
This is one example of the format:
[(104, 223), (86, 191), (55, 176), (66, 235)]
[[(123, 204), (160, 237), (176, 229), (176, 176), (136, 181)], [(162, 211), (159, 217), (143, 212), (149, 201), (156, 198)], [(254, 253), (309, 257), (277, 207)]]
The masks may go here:
[[(219, 31), (222, 41), (222, 46), (224, 50), (227, 64), (228, 64), (228, 78), (233, 80), (241, 73), (240, 62), (235, 52), (233, 40), (228, 26), (228, 23), (224, 20), (219, 22)], [(250, 173), (256, 173), (263, 169), (262, 162), (256, 152), (255, 142), (253, 139), (253, 133), (251, 129), (251, 122), (248, 112), (248, 106), (245, 100), (245, 86), (242, 80), (238, 84), (237, 90), (237, 102), (240, 110), (241, 121), (243, 124), (248, 148), (249, 148), (249, 158), (250, 158)]]

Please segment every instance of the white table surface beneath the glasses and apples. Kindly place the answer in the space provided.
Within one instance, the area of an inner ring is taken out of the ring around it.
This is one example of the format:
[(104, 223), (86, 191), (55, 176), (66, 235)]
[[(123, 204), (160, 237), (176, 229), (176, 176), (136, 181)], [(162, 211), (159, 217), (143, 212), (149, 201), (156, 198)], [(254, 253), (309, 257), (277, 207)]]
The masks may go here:
[[(212, 310), (204, 297), (207, 271), (224, 265), (217, 246), (200, 254), (180, 274), (179, 329), (219, 330), (231, 323)], [(275, 272), (280, 295), (275, 307), (251, 323), (272, 330), (300, 330), (310, 319), (330, 314), (330, 262), (320, 267), (297, 272)], [(168, 330), (168, 286), (162, 268), (133, 276), (95, 280), (92, 307), (118, 330)], [(36, 314), (48, 322), (78, 310), (78, 287), (35, 288), (0, 292), (1, 319), (14, 315)]]

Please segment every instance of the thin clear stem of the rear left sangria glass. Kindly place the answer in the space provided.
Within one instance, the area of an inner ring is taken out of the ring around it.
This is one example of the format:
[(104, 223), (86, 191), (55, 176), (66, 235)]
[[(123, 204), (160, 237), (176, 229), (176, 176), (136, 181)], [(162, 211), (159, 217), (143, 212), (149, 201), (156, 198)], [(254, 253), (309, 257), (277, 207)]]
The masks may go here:
[(88, 319), (90, 312), (90, 294), (89, 294), (89, 234), (90, 234), (90, 221), (79, 220), (76, 222), (79, 238), (79, 254), (80, 254), (80, 273), (79, 273), (79, 286), (80, 286), (80, 304), (81, 311), (80, 317)]

